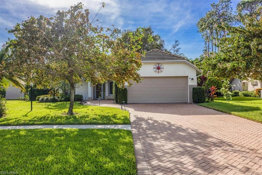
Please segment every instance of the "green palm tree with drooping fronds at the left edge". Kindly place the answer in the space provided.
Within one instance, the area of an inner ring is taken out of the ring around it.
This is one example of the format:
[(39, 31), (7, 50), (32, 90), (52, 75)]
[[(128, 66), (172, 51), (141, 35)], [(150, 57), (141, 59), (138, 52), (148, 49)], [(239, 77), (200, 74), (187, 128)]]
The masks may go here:
[(21, 79), (17, 76), (10, 74), (9, 70), (9, 61), (8, 58), (5, 57), (4, 47), (0, 50), (0, 84), (7, 88), (9, 83), (11, 83), (14, 87), (20, 88), (22, 91), (25, 91), (24, 85), (21, 83)]

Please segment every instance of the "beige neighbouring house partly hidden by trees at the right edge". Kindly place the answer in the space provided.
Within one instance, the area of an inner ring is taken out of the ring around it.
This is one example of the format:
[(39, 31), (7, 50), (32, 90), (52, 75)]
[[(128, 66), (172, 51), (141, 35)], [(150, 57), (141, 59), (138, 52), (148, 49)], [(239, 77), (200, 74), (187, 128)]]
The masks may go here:
[(262, 82), (258, 80), (254, 81), (246, 81), (246, 80), (239, 80), (237, 78), (232, 78), (229, 80), (230, 84), (234, 85), (232, 90), (239, 90), (239, 91), (253, 91), (258, 88), (262, 88)]

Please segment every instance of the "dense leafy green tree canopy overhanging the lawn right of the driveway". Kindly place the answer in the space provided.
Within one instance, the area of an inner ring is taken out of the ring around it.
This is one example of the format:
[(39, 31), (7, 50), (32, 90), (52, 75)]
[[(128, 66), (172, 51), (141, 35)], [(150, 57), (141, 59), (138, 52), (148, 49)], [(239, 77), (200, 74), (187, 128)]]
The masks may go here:
[(257, 15), (241, 15), (239, 26), (223, 25), (227, 36), (219, 39), (220, 52), (206, 59), (211, 74), (218, 77), (262, 81), (262, 6)]

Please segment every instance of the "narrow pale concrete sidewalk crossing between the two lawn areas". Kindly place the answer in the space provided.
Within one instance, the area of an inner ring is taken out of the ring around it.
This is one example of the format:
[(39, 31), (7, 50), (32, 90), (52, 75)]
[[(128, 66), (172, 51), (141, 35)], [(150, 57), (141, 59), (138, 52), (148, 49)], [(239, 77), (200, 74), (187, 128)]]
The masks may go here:
[(44, 129), (44, 128), (75, 128), (75, 129), (124, 129), (131, 130), (130, 125), (26, 125), (26, 126), (0, 126), (0, 129)]

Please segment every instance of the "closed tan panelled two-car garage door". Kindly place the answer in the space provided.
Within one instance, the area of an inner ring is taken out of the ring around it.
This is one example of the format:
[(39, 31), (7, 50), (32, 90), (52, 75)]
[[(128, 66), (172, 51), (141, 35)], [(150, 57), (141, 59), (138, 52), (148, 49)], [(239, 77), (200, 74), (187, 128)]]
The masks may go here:
[(188, 102), (187, 77), (144, 77), (128, 88), (129, 103)]

